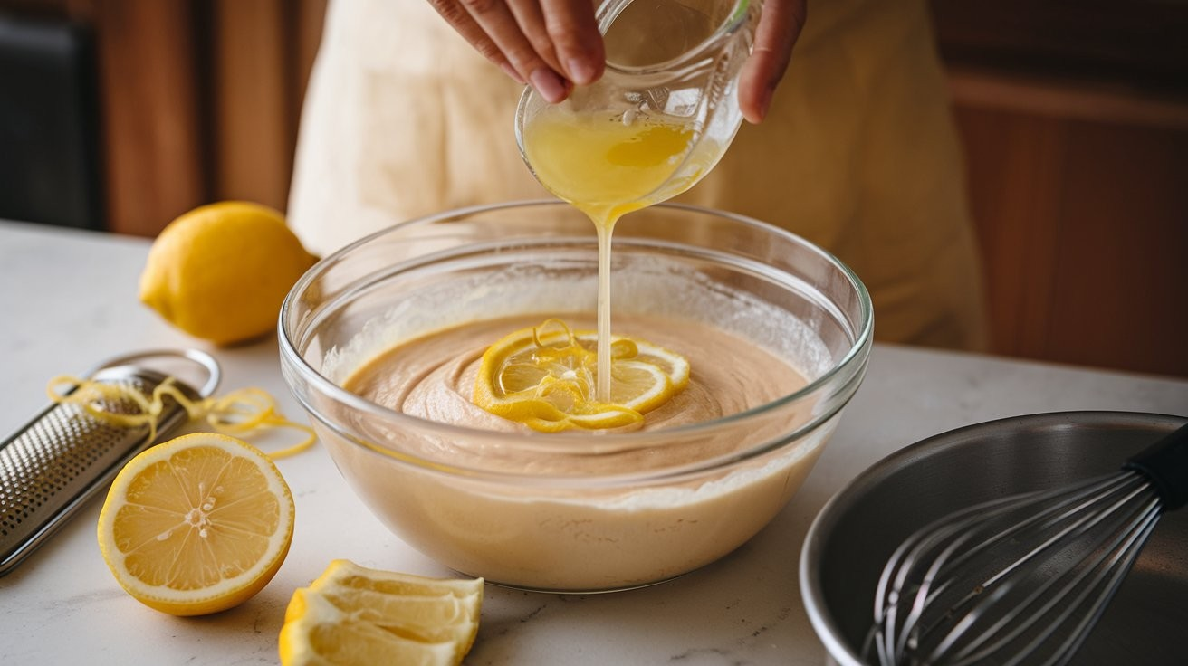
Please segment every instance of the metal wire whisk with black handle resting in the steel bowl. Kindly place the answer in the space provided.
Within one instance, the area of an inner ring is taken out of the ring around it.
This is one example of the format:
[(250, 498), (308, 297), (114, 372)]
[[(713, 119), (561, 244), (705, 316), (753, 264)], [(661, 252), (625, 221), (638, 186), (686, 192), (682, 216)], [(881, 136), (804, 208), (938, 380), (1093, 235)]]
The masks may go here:
[(1186, 502), (1188, 426), (1117, 472), (942, 518), (887, 562), (864, 653), (883, 666), (1067, 664), (1159, 515)]

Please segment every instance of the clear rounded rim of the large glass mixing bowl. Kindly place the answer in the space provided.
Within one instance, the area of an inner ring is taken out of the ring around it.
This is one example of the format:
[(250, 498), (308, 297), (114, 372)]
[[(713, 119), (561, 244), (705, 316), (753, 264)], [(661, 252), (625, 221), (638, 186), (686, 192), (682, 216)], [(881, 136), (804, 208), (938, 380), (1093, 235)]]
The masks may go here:
[[(279, 343), (279, 348), (280, 348), (282, 360), (286, 361), (289, 363), (289, 366), (291, 368), (293, 368), (302, 376), (302, 379), (304, 381), (307, 381), (311, 387), (314, 387), (316, 391), (318, 391), (323, 395), (327, 395), (328, 398), (330, 398), (335, 402), (342, 404), (342, 405), (345, 405), (347, 407), (350, 407), (352, 410), (356, 410), (356, 411), (360, 411), (362, 413), (378, 417), (378, 418), (383, 419), (386, 423), (406, 424), (409, 426), (409, 430), (411, 432), (429, 431), (429, 432), (435, 432), (435, 433), (444, 435), (444, 436), (461, 436), (461, 437), (465, 437), (467, 439), (485, 438), (485, 439), (487, 439), (489, 442), (499, 443), (500, 445), (506, 445), (506, 446), (512, 448), (512, 449), (516, 449), (516, 448), (544, 449), (544, 448), (556, 446), (557, 451), (564, 451), (564, 452), (570, 452), (570, 453), (590, 453), (590, 452), (598, 452), (599, 450), (602, 450), (605, 448), (604, 446), (596, 446), (593, 450), (586, 449), (586, 448), (583, 448), (583, 449), (575, 449), (574, 448), (575, 440), (587, 440), (587, 442), (593, 440), (593, 442), (600, 442), (600, 443), (627, 443), (627, 442), (630, 442), (632, 444), (630, 448), (624, 448), (624, 449), (620, 449), (620, 448), (606, 448), (606, 449), (611, 449), (611, 450), (618, 452), (620, 450), (633, 450), (633, 449), (649, 448), (649, 446), (663, 443), (664, 440), (672, 439), (675, 437), (694, 436), (694, 435), (701, 433), (701, 432), (714, 432), (716, 430), (720, 430), (720, 429), (723, 429), (723, 427), (728, 427), (728, 426), (732, 426), (732, 425), (738, 424), (738, 423), (745, 423), (745, 421), (752, 420), (752, 419), (754, 419), (757, 417), (762, 417), (762, 416), (767, 414), (767, 413), (770, 413), (772, 411), (779, 410), (781, 407), (784, 407), (785, 405), (798, 402), (798, 401), (803, 400), (804, 398), (807, 398), (809, 395), (816, 394), (817, 392), (820, 392), (822, 389), (822, 387), (829, 385), (834, 380), (834, 378), (836, 378), (839, 375), (842, 375), (845, 373), (845, 370), (848, 370), (848, 369), (853, 368), (855, 361), (859, 361), (859, 356), (860, 355), (861, 356), (868, 356), (870, 355), (870, 344), (872, 342), (873, 325), (874, 325), (874, 321), (873, 321), (874, 319), (874, 317), (873, 317), (874, 313), (873, 313), (873, 306), (871, 304), (871, 297), (870, 297), (870, 293), (866, 290), (866, 286), (858, 278), (858, 275), (846, 264), (843, 264), (840, 259), (838, 259), (836, 256), (834, 256), (832, 253), (829, 253), (824, 248), (817, 246), (816, 243), (813, 243), (813, 242), (805, 240), (804, 237), (802, 237), (802, 236), (800, 236), (797, 234), (794, 234), (794, 233), (788, 231), (785, 229), (781, 229), (779, 227), (776, 227), (773, 224), (769, 224), (766, 222), (762, 222), (762, 221), (756, 220), (753, 217), (748, 217), (748, 216), (745, 216), (745, 215), (739, 215), (739, 214), (735, 214), (735, 213), (723, 211), (723, 210), (716, 210), (716, 209), (712, 209), (712, 208), (704, 208), (704, 207), (691, 205), (691, 204), (683, 204), (683, 203), (671, 203), (671, 202), (655, 204), (655, 207), (656, 208), (664, 208), (664, 209), (687, 210), (687, 211), (691, 211), (691, 213), (696, 213), (696, 214), (710, 215), (710, 216), (716, 216), (716, 217), (725, 217), (725, 218), (728, 218), (728, 220), (731, 220), (733, 222), (739, 222), (739, 223), (741, 223), (744, 226), (757, 227), (757, 228), (759, 228), (759, 229), (762, 229), (764, 231), (775, 233), (776, 235), (784, 236), (785, 239), (791, 240), (792, 242), (795, 242), (796, 245), (798, 245), (800, 247), (813, 252), (819, 258), (821, 258), (822, 260), (824, 260), (827, 264), (829, 264), (829, 265), (834, 266), (835, 268), (840, 269), (841, 274), (846, 279), (846, 283), (851, 286), (851, 288), (858, 296), (858, 300), (859, 300), (859, 317), (860, 317), (857, 335), (854, 336), (853, 341), (849, 343), (849, 349), (846, 350), (846, 354), (839, 361), (834, 362), (829, 367), (829, 369), (827, 369), (824, 373), (822, 373), (821, 376), (819, 376), (819, 378), (816, 378), (814, 380), (810, 380), (808, 383), (805, 383), (800, 389), (797, 389), (797, 391), (795, 391), (792, 393), (789, 393), (786, 395), (782, 395), (782, 397), (777, 398), (776, 400), (771, 400), (769, 402), (764, 402), (763, 405), (757, 405), (754, 407), (751, 407), (750, 410), (745, 410), (742, 412), (735, 412), (733, 414), (727, 414), (725, 417), (720, 417), (720, 418), (716, 418), (716, 419), (710, 419), (710, 420), (704, 420), (704, 421), (696, 421), (696, 423), (684, 424), (684, 425), (678, 425), (678, 426), (672, 426), (672, 427), (664, 427), (664, 429), (659, 429), (659, 430), (655, 430), (655, 431), (646, 431), (646, 432), (631, 431), (631, 432), (598, 432), (598, 433), (589, 433), (589, 432), (584, 432), (583, 431), (583, 432), (577, 432), (577, 433), (574, 433), (574, 432), (549, 433), (549, 432), (535, 432), (535, 431), (533, 432), (523, 432), (523, 431), (484, 430), (484, 429), (478, 429), (478, 427), (467, 427), (467, 426), (461, 426), (461, 425), (446, 424), (446, 423), (441, 423), (441, 421), (434, 421), (434, 420), (430, 420), (430, 419), (424, 419), (424, 418), (421, 418), (421, 417), (413, 417), (413, 416), (410, 416), (410, 414), (405, 414), (403, 412), (398, 412), (396, 410), (392, 410), (392, 408), (385, 407), (383, 405), (378, 405), (375, 402), (372, 402), (371, 400), (367, 400), (366, 398), (364, 398), (361, 395), (358, 395), (355, 393), (352, 393), (352, 392), (347, 391), (346, 388), (339, 386), (337, 383), (335, 383), (334, 381), (331, 381), (329, 378), (324, 376), (322, 373), (320, 373), (318, 370), (314, 369), (305, 361), (304, 356), (302, 356), (302, 354), (297, 351), (295, 342), (290, 338), (290, 332), (287, 330), (289, 329), (287, 323), (289, 323), (289, 319), (291, 318), (291, 312), (293, 310), (293, 305), (295, 305), (295, 303), (297, 300), (298, 294), (304, 293), (305, 290), (309, 287), (310, 283), (312, 283), (318, 275), (321, 275), (322, 272), (324, 272), (328, 266), (330, 266), (330, 265), (335, 264), (336, 261), (343, 259), (345, 256), (347, 256), (348, 254), (350, 254), (353, 250), (355, 250), (355, 249), (358, 249), (358, 248), (360, 248), (360, 247), (362, 247), (362, 246), (365, 246), (365, 245), (367, 245), (369, 242), (373, 242), (373, 241), (375, 241), (379, 237), (386, 236), (388, 234), (397, 233), (400, 229), (404, 229), (404, 228), (407, 228), (407, 227), (429, 226), (429, 224), (432, 224), (432, 223), (436, 223), (436, 222), (441, 222), (441, 221), (446, 221), (446, 220), (456, 220), (456, 218), (462, 218), (462, 217), (469, 217), (469, 216), (473, 216), (473, 215), (480, 214), (480, 213), (491, 213), (491, 211), (507, 210), (507, 209), (516, 209), (516, 208), (531, 209), (531, 208), (543, 208), (543, 207), (564, 207), (567, 209), (570, 208), (569, 204), (567, 204), (567, 203), (564, 203), (564, 202), (562, 202), (560, 199), (524, 199), (524, 201), (510, 201), (510, 202), (495, 203), (495, 204), (480, 204), (480, 205), (472, 205), (472, 207), (457, 208), (457, 209), (441, 211), (441, 213), (435, 213), (435, 214), (431, 214), (431, 215), (425, 215), (425, 216), (421, 216), (421, 217), (416, 217), (416, 218), (412, 218), (412, 220), (407, 220), (407, 221), (404, 221), (404, 222), (399, 222), (399, 223), (392, 224), (392, 226), (386, 227), (384, 229), (373, 231), (372, 234), (368, 234), (368, 235), (366, 235), (366, 236), (364, 236), (364, 237), (361, 237), (361, 239), (359, 239), (359, 240), (356, 240), (354, 242), (350, 242), (350, 243), (348, 243), (348, 245), (346, 245), (346, 246), (336, 249), (335, 252), (328, 254), (327, 256), (320, 259), (312, 267), (310, 267), (297, 280), (297, 283), (292, 286), (292, 288), (285, 296), (284, 303), (280, 306), (280, 313), (279, 313), (278, 322), (277, 322), (277, 337), (278, 337), (278, 343)], [(286, 383), (290, 383), (290, 385), (292, 383), (292, 380), (289, 379), (287, 374), (285, 374), (285, 381), (286, 381)], [(318, 420), (322, 420), (328, 426), (331, 426), (335, 430), (339, 430), (339, 426), (336, 424), (331, 424), (331, 423), (327, 421), (327, 419), (323, 417), (322, 412), (320, 410), (316, 410), (312, 405), (310, 405), (309, 401), (301, 394), (301, 392), (296, 391), (295, 387), (292, 387), (292, 386), (290, 388), (296, 394), (298, 401), (302, 402), (302, 406), (308, 412), (310, 412), (310, 414), (312, 414), (314, 417), (316, 417)], [(803, 424), (795, 432), (796, 433), (801, 433), (801, 432), (808, 432), (808, 431), (813, 430), (816, 425), (819, 425), (823, 420), (830, 418), (834, 413), (836, 413), (836, 411), (838, 411), (836, 408), (834, 408), (834, 410), (826, 410), (826, 411), (823, 411), (821, 413), (813, 414), (813, 418), (810, 418), (805, 424)], [(354, 438), (350, 438), (350, 439), (354, 440)], [(739, 451), (739, 453), (742, 455), (742, 453), (746, 453), (746, 451)]]

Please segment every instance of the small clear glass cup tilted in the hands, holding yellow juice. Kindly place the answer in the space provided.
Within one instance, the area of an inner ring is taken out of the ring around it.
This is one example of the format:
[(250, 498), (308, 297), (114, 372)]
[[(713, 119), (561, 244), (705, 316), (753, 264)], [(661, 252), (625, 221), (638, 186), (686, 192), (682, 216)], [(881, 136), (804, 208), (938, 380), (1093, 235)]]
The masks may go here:
[[(527, 88), (516, 112), (516, 139), (532, 175), (554, 195), (587, 214), (618, 217), (688, 190), (721, 159), (742, 120), (738, 80), (759, 6), (606, 0), (595, 17), (606, 74), (558, 104)], [(555, 145), (541, 147), (533, 132), (546, 125), (558, 128)], [(643, 125), (663, 135), (632, 133)], [(599, 138), (607, 132), (617, 138)]]

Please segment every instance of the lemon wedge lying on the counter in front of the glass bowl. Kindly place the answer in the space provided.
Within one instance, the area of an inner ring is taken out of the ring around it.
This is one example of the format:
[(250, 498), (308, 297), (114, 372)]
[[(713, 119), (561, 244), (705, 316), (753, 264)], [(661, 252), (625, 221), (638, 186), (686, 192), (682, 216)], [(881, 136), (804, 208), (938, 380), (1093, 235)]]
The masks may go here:
[(293, 592), (280, 664), (456, 666), (474, 645), (481, 605), (481, 578), (426, 578), (337, 559)]

